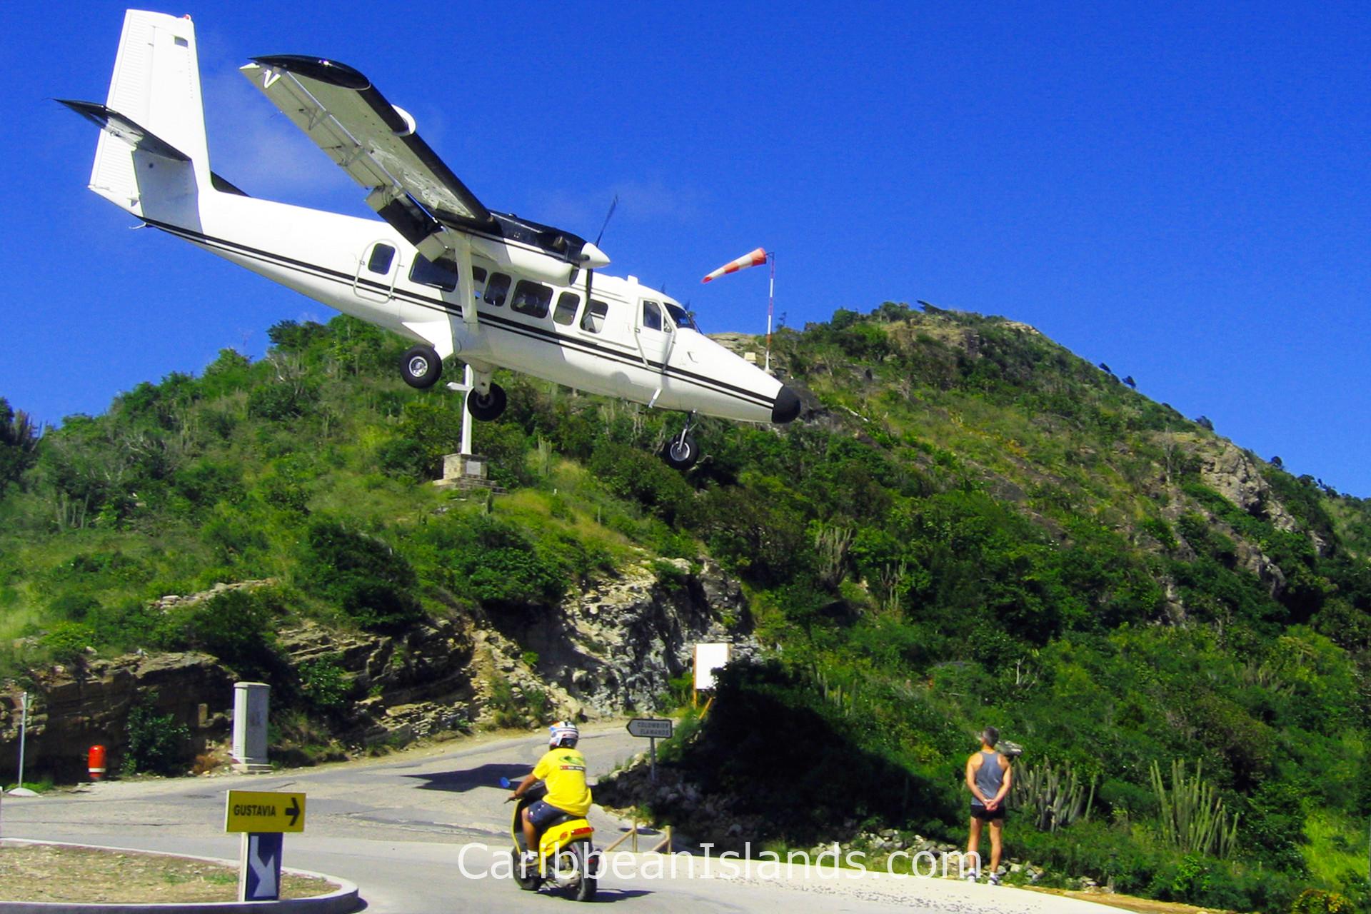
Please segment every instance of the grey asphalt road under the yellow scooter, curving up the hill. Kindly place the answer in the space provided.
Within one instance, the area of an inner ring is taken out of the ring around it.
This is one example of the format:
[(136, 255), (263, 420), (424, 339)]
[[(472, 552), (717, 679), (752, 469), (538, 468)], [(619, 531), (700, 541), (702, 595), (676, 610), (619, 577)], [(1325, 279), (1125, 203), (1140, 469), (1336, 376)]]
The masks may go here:
[[(581, 750), (602, 776), (646, 747), (622, 725), (587, 728)], [(78, 841), (236, 859), (239, 836), (223, 832), (226, 789), (307, 795), (306, 830), (287, 835), (288, 867), (356, 882), (374, 914), (452, 910), (565, 910), (574, 902), (521, 892), (488, 876), (507, 859), (509, 814), (502, 776), (526, 774), (546, 748), (540, 733), (476, 737), (436, 750), (296, 769), (269, 776), (108, 781), (70, 793), (4, 798), (0, 836)], [(591, 813), (596, 844), (627, 824)], [(670, 865), (675, 863), (675, 873)], [(1101, 906), (1013, 888), (949, 880), (895, 878), (851, 870), (808, 873), (701, 858), (610, 854), (598, 903), (642, 911), (928, 911), (1090, 914)], [(548, 907), (553, 906), (553, 907)], [(562, 906), (562, 907), (557, 907)]]

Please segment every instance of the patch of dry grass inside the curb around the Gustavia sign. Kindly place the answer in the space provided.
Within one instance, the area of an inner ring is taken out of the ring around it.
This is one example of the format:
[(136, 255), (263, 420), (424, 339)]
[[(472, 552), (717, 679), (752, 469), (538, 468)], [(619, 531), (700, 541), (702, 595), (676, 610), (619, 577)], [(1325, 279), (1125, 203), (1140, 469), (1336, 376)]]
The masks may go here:
[[(55, 878), (60, 876), (60, 878)], [(281, 898), (325, 895), (328, 880), (281, 877)], [(236, 867), (184, 856), (55, 844), (0, 844), (0, 900), (67, 903), (236, 902)]]

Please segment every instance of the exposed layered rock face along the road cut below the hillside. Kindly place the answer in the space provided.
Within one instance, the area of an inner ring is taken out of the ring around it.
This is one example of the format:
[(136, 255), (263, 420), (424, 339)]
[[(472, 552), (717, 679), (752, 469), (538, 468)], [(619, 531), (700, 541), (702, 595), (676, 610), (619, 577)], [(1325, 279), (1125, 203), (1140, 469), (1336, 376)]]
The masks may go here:
[[(352, 743), (404, 741), (537, 711), (617, 714), (651, 707), (668, 678), (690, 669), (696, 641), (732, 641), (739, 654), (751, 650), (738, 582), (714, 565), (699, 574), (684, 560), (670, 565), (679, 576), (669, 581), (631, 567), (536, 614), (478, 611), (396, 634), (340, 634), (304, 622), (280, 632), (277, 643), (293, 670), (328, 658), (351, 680), (354, 693), (365, 696), (344, 714), (341, 736)], [(531, 652), (537, 654), (532, 666)], [(191, 729), (189, 759), (207, 741), (229, 736), (239, 678), (215, 658), (195, 652), (137, 654), (40, 671), (29, 695), (26, 770), (85, 780), (86, 752), (101, 744), (117, 771), (129, 711), (152, 689), (158, 713)], [(273, 695), (273, 707), (284, 699)], [(19, 693), (0, 693), (0, 756), (18, 755), (18, 728)]]

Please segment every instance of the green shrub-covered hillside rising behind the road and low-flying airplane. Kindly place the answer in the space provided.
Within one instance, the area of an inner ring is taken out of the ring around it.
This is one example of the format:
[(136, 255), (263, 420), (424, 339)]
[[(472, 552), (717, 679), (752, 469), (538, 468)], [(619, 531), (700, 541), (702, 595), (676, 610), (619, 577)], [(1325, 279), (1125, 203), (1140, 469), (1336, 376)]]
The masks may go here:
[[(1016, 856), (1209, 906), (1366, 899), (1371, 503), (1032, 328), (887, 303), (783, 330), (806, 412), (703, 422), (684, 475), (653, 455), (676, 417), (502, 378), (477, 448), (510, 495), (489, 502), (420, 484), (457, 449), (459, 400), (398, 380), (403, 343), (348, 318), (271, 340), (41, 439), (0, 410), (0, 676), (86, 645), (271, 674), (282, 617), (553, 613), (644, 552), (707, 555), (768, 658), (728, 673), (675, 765), (768, 837), (956, 839), (971, 734), (994, 724), (1021, 774), (1094, 784), (1076, 822), (1013, 819)], [(263, 578), (233, 606), (149, 608)], [(1169, 791), (1176, 761), (1235, 817), (1231, 847), (1168, 829), (1153, 769)]]

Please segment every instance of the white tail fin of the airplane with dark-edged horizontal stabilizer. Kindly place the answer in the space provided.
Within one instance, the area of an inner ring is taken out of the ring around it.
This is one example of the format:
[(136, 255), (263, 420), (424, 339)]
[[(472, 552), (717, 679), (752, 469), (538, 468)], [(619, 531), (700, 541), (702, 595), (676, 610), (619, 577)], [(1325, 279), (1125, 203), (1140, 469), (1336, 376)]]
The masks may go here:
[(137, 217), (197, 221), (213, 185), (189, 18), (129, 10), (106, 104), (62, 103), (103, 127), (92, 190)]

